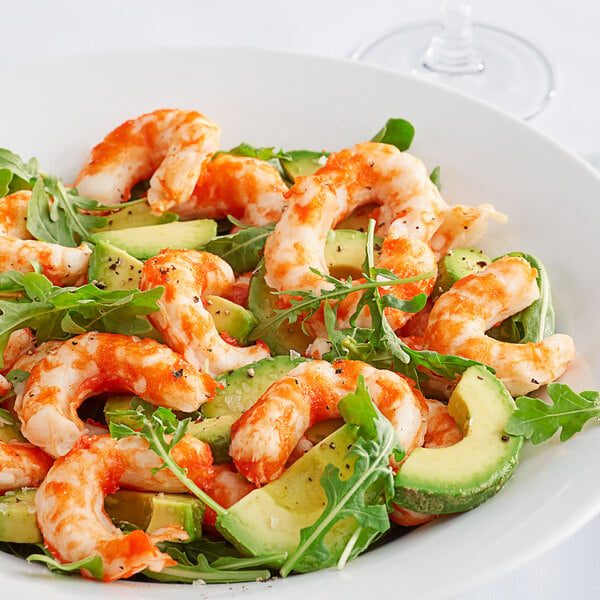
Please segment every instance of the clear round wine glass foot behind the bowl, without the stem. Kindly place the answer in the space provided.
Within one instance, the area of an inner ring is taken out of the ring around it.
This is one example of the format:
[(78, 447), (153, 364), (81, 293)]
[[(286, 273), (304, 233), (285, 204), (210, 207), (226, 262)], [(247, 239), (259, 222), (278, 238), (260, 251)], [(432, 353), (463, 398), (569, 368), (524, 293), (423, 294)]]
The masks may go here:
[(527, 40), (481, 23), (473, 24), (473, 35), (482, 70), (460, 74), (427, 67), (425, 52), (440, 31), (435, 22), (408, 25), (360, 46), (351, 57), (458, 89), (523, 119), (537, 115), (554, 97), (552, 67), (544, 55)]

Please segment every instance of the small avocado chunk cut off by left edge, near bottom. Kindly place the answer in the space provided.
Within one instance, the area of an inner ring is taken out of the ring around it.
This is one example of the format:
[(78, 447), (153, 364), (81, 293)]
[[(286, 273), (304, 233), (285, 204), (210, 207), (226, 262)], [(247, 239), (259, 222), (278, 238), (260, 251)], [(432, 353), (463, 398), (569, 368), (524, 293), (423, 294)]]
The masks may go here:
[(35, 492), (24, 488), (0, 496), (0, 541), (39, 544), (43, 541), (35, 517)]

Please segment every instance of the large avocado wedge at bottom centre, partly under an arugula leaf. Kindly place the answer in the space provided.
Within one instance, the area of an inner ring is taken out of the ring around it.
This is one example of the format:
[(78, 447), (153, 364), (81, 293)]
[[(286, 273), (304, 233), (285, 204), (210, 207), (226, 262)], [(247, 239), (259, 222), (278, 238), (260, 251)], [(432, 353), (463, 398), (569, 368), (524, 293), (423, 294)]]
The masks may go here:
[[(355, 440), (355, 429), (344, 425), (299, 458), (278, 479), (250, 492), (217, 519), (223, 537), (246, 555), (292, 553), (300, 542), (302, 529), (312, 525), (327, 505), (325, 490), (319, 483), (328, 464), (342, 473), (349, 472), (345, 456)], [(351, 469), (352, 467), (350, 467)], [(357, 523), (349, 517), (338, 522), (325, 537), (329, 561), (335, 564)], [(282, 562), (273, 563), (273, 568)]]

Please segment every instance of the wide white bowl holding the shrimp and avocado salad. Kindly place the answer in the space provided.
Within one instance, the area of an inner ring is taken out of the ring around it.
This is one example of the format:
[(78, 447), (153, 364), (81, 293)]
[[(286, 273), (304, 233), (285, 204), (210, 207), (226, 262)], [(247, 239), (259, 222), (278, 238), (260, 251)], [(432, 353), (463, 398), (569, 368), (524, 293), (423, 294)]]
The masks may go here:
[[(0, 71), (7, 88), (0, 146), (69, 181), (88, 151), (127, 118), (156, 108), (200, 110), (223, 128), (224, 148), (247, 141), (335, 150), (369, 139), (388, 117), (416, 127), (412, 151), (441, 165), (452, 203), (491, 202), (510, 224), (494, 227), (492, 254), (540, 256), (554, 283), (559, 329), (580, 353), (568, 375), (596, 389), (600, 295), (596, 233), (600, 178), (572, 153), (524, 123), (426, 82), (351, 62), (249, 49), (113, 53)], [(498, 577), (548, 550), (600, 509), (599, 427), (566, 444), (526, 448), (504, 490), (483, 506), (440, 520), (350, 563), (287, 580), (169, 586), (169, 598), (443, 598)], [(0, 556), (12, 597), (163, 598), (163, 585), (97, 585), (55, 578)], [(18, 594), (15, 596), (15, 592)], [(200, 593), (199, 593), (200, 592)]]

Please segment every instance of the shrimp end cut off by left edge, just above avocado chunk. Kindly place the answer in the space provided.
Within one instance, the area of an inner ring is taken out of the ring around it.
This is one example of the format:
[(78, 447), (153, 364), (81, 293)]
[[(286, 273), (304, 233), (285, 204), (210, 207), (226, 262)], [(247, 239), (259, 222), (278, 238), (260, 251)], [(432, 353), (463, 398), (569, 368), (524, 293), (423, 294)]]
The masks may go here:
[(52, 462), (45, 452), (31, 444), (0, 441), (0, 494), (37, 486)]

